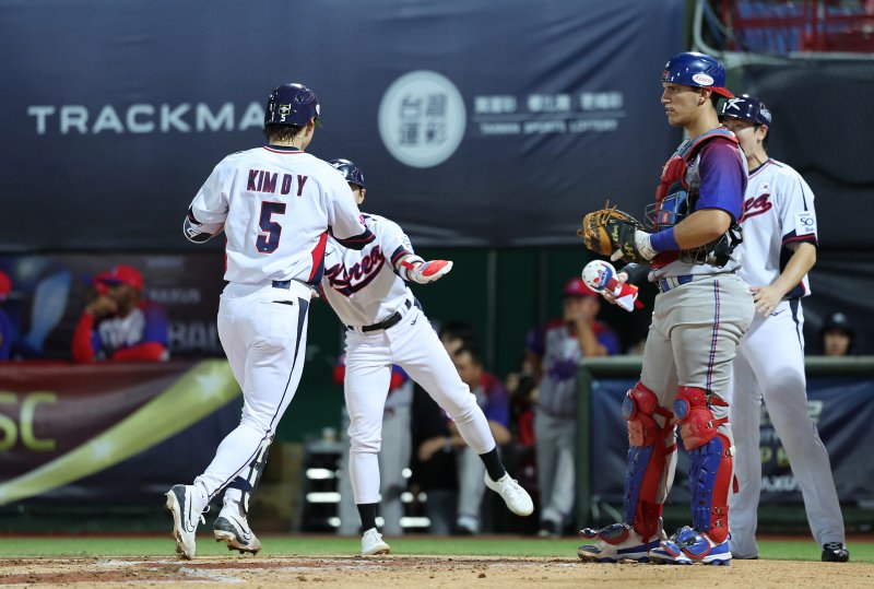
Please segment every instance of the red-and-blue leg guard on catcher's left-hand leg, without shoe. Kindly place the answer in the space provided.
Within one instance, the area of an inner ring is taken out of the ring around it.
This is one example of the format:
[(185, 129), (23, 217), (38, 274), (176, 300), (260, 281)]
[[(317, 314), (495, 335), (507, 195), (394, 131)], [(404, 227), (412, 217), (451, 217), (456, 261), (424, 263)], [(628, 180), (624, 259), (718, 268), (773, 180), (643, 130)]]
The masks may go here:
[[(628, 468), (625, 473), (625, 521), (648, 541), (659, 534), (662, 507), (676, 464), (673, 414), (659, 407), (656, 393), (637, 382), (622, 404), (628, 422)], [(656, 416), (664, 420), (659, 425)]]

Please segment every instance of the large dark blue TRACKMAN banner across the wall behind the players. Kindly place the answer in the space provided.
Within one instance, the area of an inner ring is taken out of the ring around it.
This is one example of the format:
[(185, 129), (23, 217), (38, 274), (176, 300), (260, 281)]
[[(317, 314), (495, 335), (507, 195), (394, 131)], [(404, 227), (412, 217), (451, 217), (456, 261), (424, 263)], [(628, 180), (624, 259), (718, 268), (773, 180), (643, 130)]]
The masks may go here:
[(292, 81), (321, 102), (309, 151), (417, 245), (578, 243), (606, 198), (642, 212), (680, 140), (685, 4), (0, 0), (0, 251), (193, 247), (188, 203)]

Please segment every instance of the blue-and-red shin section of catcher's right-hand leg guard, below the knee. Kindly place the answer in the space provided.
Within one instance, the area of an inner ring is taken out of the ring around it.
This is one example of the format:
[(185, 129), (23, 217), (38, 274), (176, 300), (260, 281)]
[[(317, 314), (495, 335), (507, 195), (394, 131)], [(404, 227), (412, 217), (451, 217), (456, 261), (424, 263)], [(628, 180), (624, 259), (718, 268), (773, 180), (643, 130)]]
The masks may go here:
[(692, 522), (713, 542), (724, 541), (729, 533), (733, 453), (728, 436), (719, 433), (710, 441), (688, 451)]

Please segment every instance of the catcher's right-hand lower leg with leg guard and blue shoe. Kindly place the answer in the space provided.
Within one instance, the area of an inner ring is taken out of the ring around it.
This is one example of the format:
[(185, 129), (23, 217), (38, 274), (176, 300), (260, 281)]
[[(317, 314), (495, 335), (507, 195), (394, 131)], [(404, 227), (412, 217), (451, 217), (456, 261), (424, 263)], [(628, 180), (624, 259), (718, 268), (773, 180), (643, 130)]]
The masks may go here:
[(730, 565), (729, 488), (734, 476), (729, 419), (711, 408), (728, 408), (705, 389), (680, 387), (674, 414), (689, 455), (693, 527), (681, 528), (650, 552), (657, 563)]

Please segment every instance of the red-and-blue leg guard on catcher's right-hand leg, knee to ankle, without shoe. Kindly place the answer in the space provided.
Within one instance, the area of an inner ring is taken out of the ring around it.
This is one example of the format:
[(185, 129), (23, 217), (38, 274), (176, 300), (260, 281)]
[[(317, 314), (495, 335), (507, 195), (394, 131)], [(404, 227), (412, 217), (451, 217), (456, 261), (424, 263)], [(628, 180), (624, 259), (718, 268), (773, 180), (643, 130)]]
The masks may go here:
[(729, 534), (729, 488), (734, 449), (725, 434), (717, 432), (728, 417), (716, 419), (711, 407), (728, 407), (719, 397), (695, 387), (680, 387), (674, 413), (683, 446), (689, 455), (689, 494), (694, 528), (714, 543)]

